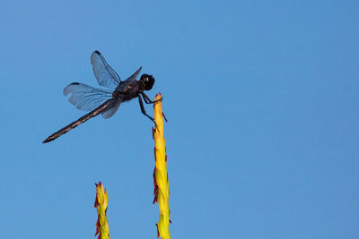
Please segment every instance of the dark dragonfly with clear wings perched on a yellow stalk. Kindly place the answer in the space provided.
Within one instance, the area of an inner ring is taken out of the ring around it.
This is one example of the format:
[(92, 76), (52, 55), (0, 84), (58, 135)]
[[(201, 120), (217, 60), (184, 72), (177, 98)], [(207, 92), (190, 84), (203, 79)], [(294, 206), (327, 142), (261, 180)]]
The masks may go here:
[(64, 133), (69, 132), (96, 115), (101, 114), (103, 118), (107, 119), (116, 113), (122, 102), (129, 101), (133, 98), (138, 98), (141, 112), (154, 122), (153, 117), (147, 115), (144, 109), (144, 103), (153, 104), (162, 100), (162, 98), (160, 98), (153, 101), (144, 93), (144, 90), (151, 90), (153, 88), (153, 75), (143, 74), (141, 75), (140, 80), (137, 81), (136, 77), (141, 72), (141, 66), (136, 73), (133, 73), (126, 81), (121, 81), (118, 73), (107, 64), (105, 58), (99, 51), (94, 51), (92, 53), (91, 64), (93, 74), (99, 85), (108, 88), (109, 90), (93, 88), (78, 82), (73, 82), (67, 85), (64, 89), (64, 95), (67, 96), (68, 94), (71, 94), (68, 99), (70, 103), (78, 109), (91, 112), (83, 115), (73, 123), (67, 124), (57, 132), (54, 132), (48, 136), (43, 143), (56, 140)]

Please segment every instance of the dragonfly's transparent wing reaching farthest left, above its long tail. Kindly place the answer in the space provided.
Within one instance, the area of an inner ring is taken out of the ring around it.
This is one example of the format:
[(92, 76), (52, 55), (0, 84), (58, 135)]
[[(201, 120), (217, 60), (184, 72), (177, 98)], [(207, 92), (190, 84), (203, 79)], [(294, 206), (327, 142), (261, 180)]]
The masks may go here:
[(64, 89), (64, 95), (71, 93), (70, 101), (75, 107), (90, 111), (112, 97), (109, 90), (96, 89), (82, 83), (71, 83)]

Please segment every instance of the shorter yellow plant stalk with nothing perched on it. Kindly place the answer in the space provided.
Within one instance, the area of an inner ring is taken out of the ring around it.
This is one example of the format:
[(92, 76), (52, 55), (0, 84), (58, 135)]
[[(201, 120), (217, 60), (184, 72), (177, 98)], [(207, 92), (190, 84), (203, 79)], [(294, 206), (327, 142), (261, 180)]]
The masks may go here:
[(107, 193), (106, 188), (103, 187), (103, 184), (99, 182), (96, 184), (96, 200), (95, 208), (97, 209), (97, 218), (96, 222), (96, 235), (98, 239), (109, 239), (109, 223), (106, 218), (107, 204), (109, 203), (109, 194)]

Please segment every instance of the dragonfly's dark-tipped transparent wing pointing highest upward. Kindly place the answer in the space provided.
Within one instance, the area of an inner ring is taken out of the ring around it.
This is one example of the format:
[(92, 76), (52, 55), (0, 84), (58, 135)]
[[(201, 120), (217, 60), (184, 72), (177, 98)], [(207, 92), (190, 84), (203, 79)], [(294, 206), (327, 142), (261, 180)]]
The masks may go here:
[(121, 82), (118, 73), (116, 73), (99, 51), (94, 51), (91, 55), (91, 64), (93, 74), (95, 75), (99, 85), (107, 87), (111, 90), (115, 89)]

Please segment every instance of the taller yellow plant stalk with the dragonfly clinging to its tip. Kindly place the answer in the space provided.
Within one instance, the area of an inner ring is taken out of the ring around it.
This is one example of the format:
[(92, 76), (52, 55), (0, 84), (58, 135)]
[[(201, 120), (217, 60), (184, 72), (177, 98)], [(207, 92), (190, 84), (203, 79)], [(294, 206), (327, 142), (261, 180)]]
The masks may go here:
[[(157, 94), (154, 100), (161, 99), (161, 94)], [(158, 202), (160, 208), (160, 219), (157, 226), (157, 237), (161, 235), (162, 239), (170, 239), (170, 205), (169, 196), (170, 188), (167, 174), (167, 156), (166, 143), (163, 138), (163, 115), (162, 115), (162, 100), (154, 103), (154, 122), (156, 123), (153, 129), (154, 139), (154, 158), (156, 166), (153, 171), (154, 184), (154, 200)]]

